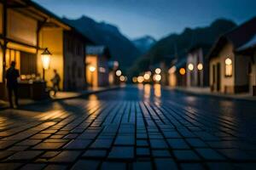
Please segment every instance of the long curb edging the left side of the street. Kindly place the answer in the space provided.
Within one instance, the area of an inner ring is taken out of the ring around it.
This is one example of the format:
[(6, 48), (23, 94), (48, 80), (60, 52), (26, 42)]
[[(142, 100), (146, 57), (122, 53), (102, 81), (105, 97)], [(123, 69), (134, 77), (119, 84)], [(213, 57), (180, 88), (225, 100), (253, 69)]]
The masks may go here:
[[(115, 89), (119, 89), (119, 88), (122, 88), (122, 87), (117, 86), (117, 87), (113, 87), (113, 88), (105, 88), (105, 89), (102, 89), (102, 90), (96, 90), (96, 91), (86, 92), (86, 93), (84, 93), (84, 94), (79, 94), (79, 95), (77, 95), (77, 96), (67, 97), (67, 98), (62, 98), (62, 99), (43, 99), (43, 100), (35, 100), (34, 102), (32, 102), (32, 103), (30, 103), (30, 104), (20, 105), (20, 107), (22, 108), (23, 106), (26, 106), (26, 105), (46, 104), (46, 103), (49, 103), (49, 102), (61, 101), (61, 100), (65, 100), (65, 99), (77, 99), (77, 98), (80, 98), (80, 97), (88, 96), (88, 95), (90, 95), (90, 94), (99, 94), (99, 93), (102, 93), (102, 92), (111, 91), (111, 90), (115, 90)], [(6, 110), (6, 109), (9, 109), (9, 107), (8, 107), (8, 106), (0, 107), (0, 111)]]

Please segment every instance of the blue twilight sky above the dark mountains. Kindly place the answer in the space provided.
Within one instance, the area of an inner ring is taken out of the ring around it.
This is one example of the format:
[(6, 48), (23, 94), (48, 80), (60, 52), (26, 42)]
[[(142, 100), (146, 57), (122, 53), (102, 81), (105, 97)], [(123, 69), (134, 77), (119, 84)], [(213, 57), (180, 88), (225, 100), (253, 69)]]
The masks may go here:
[(156, 39), (185, 27), (207, 26), (217, 18), (241, 24), (256, 16), (256, 0), (34, 0), (59, 16), (81, 15), (119, 27), (133, 39)]

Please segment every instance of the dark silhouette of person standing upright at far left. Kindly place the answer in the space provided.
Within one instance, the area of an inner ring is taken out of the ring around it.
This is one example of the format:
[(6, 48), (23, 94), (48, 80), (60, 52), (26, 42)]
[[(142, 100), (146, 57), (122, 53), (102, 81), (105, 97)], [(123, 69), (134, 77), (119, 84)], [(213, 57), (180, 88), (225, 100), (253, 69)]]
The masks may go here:
[(15, 61), (11, 62), (9, 69), (6, 71), (6, 80), (7, 80), (7, 88), (8, 88), (8, 95), (9, 95), (9, 106), (14, 108), (13, 105), (13, 93), (15, 94), (15, 105), (16, 107), (19, 106), (18, 103), (18, 78), (20, 77), (20, 73), (17, 69), (15, 69)]

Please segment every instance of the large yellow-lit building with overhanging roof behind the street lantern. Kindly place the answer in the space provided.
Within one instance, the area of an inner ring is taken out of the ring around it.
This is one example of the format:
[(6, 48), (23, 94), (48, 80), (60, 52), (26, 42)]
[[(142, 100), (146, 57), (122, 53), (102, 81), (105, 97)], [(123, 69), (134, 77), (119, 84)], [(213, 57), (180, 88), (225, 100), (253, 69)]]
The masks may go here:
[[(90, 43), (86, 37), (30, 0), (3, 0), (0, 15), (0, 98), (6, 98), (4, 75), (12, 60), (20, 70), (20, 97), (30, 97), (34, 84), (45, 84), (40, 80), (43, 75), (50, 86), (54, 69), (61, 76), (61, 90), (86, 87), (84, 47)], [(41, 58), (45, 48), (51, 53), (47, 70)]]

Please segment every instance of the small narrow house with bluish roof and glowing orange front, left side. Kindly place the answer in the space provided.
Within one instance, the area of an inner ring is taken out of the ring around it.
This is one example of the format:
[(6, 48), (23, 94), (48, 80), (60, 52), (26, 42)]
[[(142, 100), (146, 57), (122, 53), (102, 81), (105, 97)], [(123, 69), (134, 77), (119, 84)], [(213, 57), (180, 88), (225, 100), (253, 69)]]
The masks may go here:
[(86, 47), (86, 80), (90, 87), (108, 86), (109, 71), (108, 59), (110, 53), (108, 48), (104, 46), (88, 46)]

